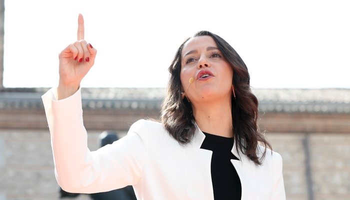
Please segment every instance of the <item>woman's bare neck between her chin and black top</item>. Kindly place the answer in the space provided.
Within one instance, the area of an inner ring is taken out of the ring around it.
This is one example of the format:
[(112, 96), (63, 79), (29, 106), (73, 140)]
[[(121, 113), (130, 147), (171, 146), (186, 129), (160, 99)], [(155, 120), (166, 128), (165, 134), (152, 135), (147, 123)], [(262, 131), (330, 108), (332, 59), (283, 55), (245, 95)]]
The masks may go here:
[(200, 130), (224, 137), (233, 137), (231, 103), (223, 101), (192, 104), (193, 116)]

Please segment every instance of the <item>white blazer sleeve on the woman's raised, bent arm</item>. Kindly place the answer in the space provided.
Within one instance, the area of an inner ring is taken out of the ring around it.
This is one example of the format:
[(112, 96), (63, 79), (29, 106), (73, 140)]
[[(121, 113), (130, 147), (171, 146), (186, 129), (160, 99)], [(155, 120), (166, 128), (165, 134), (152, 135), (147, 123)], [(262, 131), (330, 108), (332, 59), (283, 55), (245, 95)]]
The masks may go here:
[(56, 88), (42, 95), (58, 184), (75, 193), (102, 192), (136, 184), (147, 154), (147, 145), (139, 134), (146, 129), (144, 122), (135, 122), (126, 136), (90, 151), (80, 88), (65, 99), (55, 99)]

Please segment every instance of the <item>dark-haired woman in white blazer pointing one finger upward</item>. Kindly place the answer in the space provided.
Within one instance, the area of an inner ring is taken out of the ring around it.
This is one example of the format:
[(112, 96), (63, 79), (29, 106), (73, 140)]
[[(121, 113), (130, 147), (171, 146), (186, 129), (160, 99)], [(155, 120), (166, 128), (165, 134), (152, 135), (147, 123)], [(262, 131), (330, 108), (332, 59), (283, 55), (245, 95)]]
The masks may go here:
[(185, 40), (169, 67), (161, 122), (138, 120), (90, 152), (79, 84), (95, 55), (79, 15), (78, 41), (59, 55), (58, 87), (42, 96), (64, 190), (133, 185), (137, 199), (285, 199), (282, 159), (257, 130), (247, 68), (226, 41), (208, 31)]

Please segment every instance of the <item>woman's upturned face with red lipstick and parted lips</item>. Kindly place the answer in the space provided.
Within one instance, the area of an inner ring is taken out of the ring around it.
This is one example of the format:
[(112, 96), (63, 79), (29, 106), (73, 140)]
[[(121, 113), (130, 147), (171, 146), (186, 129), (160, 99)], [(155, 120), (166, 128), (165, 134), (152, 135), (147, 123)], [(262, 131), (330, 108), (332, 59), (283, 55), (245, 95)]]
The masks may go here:
[(233, 70), (210, 36), (190, 38), (182, 48), (181, 60), (181, 85), (191, 102), (230, 98)]

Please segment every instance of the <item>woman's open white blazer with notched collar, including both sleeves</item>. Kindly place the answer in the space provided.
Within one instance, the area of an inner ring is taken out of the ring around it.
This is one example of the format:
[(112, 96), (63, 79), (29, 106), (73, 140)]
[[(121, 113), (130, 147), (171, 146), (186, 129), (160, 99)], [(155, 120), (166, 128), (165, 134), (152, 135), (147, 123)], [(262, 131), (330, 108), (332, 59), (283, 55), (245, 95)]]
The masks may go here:
[[(55, 88), (42, 95), (55, 177), (64, 190), (94, 193), (132, 185), (137, 199), (214, 199), (212, 151), (200, 148), (205, 135), (199, 128), (191, 143), (181, 146), (161, 123), (141, 119), (126, 136), (90, 151), (80, 89), (65, 99), (55, 99)], [(241, 199), (285, 199), (281, 156), (267, 150), (262, 165), (256, 166), (242, 153), (239, 156), (235, 145), (231, 152), (240, 160), (231, 162), (241, 181)]]

